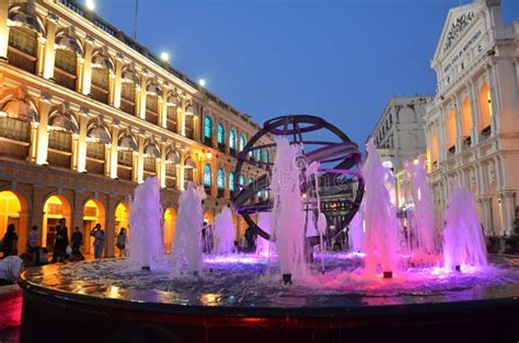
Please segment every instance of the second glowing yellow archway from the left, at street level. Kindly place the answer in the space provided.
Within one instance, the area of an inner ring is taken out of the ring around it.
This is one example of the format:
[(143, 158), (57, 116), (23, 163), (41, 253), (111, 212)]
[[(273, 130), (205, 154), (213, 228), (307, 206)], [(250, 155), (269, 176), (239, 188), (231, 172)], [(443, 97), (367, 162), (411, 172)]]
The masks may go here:
[(70, 238), (70, 203), (62, 196), (51, 196), (45, 201), (42, 225), (42, 246), (47, 247), (49, 252), (54, 249), (56, 226), (59, 225), (60, 218), (67, 221)]

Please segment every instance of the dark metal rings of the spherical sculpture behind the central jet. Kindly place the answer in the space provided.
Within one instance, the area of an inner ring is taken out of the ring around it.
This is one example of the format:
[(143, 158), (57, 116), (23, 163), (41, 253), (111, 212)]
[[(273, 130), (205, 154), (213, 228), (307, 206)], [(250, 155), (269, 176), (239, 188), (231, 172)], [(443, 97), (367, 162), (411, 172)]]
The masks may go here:
[[(338, 142), (319, 141), (305, 137), (309, 133), (315, 133), (320, 130), (326, 130), (328, 134), (332, 133), (332, 137), (338, 139)], [(272, 199), (258, 202), (254, 202), (253, 200), (260, 191), (269, 190), (272, 166), (274, 163), (270, 161), (265, 163), (263, 161), (249, 158), (250, 154), (254, 156), (256, 150), (276, 146), (275, 143), (256, 145), (260, 139), (265, 135), (285, 135), (289, 138), (291, 144), (302, 144), (304, 150), (300, 158), (298, 158), (298, 162), (301, 164), (300, 168), (305, 168), (313, 162), (318, 162), (320, 166), (336, 163), (332, 167), (320, 167), (318, 169), (319, 187), (315, 187), (315, 182), (303, 181), (301, 184), (301, 189), (304, 192), (315, 192), (315, 189), (319, 189), (319, 194), (322, 197), (325, 194), (341, 194), (341, 192), (344, 192), (346, 187), (353, 187), (356, 185), (357, 189), (354, 199), (346, 200), (349, 204), (349, 211), (344, 216), (344, 220), (341, 223), (337, 223), (337, 225), (341, 225), (341, 228), (349, 224), (360, 206), (365, 190), (365, 184), (359, 172), (361, 153), (358, 150), (358, 145), (337, 127), (322, 118), (308, 115), (290, 115), (266, 121), (263, 125), (263, 128), (249, 140), (244, 149), (237, 155), (238, 161), (234, 169), (235, 177), (233, 186), (234, 189), (239, 189), (240, 191), (233, 198), (232, 203), (237, 213), (244, 218), (249, 227), (251, 227), (256, 235), (262, 236), (265, 239), (270, 238), (270, 235), (254, 222), (252, 215), (260, 212), (269, 212), (273, 208)], [(312, 145), (316, 145), (318, 147), (309, 151), (308, 147)], [(241, 186), (239, 176), (242, 175), (245, 164), (258, 167), (267, 165), (268, 173), (262, 175), (246, 186)], [(316, 210), (315, 203), (307, 202), (305, 210)], [(332, 237), (330, 236), (325, 237), (325, 239), (331, 238)], [(320, 243), (319, 236), (308, 237), (307, 239), (311, 246)]]

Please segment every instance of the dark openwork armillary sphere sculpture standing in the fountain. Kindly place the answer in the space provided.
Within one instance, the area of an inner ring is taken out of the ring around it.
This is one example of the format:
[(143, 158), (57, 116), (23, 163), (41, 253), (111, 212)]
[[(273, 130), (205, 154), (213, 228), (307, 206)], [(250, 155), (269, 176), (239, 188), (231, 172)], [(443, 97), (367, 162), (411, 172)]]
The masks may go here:
[[(238, 155), (234, 169), (234, 189), (239, 190), (232, 200), (233, 205), (253, 232), (265, 239), (270, 235), (257, 225), (253, 220), (254, 214), (269, 212), (273, 209), (273, 199), (255, 201), (258, 192), (269, 191), (270, 176), (274, 163), (268, 161), (255, 161), (255, 151), (260, 149), (275, 147), (275, 143), (260, 145), (257, 142), (268, 135), (285, 135), (290, 144), (301, 144), (302, 154), (298, 157), (297, 165), (301, 170), (300, 187), (304, 194), (303, 209), (308, 213), (313, 211), (318, 217), (320, 210), (326, 214), (323, 202), (333, 199), (341, 203), (341, 220), (335, 222), (337, 228), (344, 228), (357, 213), (364, 196), (364, 180), (360, 176), (361, 153), (358, 145), (337, 127), (325, 121), (323, 118), (307, 115), (290, 115), (278, 117), (266, 121), (263, 128), (249, 140), (247, 144)], [(274, 158), (273, 158), (274, 159)], [(315, 164), (316, 162), (316, 164)], [(240, 175), (246, 165), (264, 166), (267, 164), (268, 173), (260, 176), (249, 185), (240, 185)], [(316, 172), (314, 166), (319, 166)], [(312, 168), (313, 167), (313, 168)], [(314, 177), (307, 175), (313, 169)], [(318, 180), (318, 182), (316, 182)], [(319, 196), (319, 197), (318, 197)], [(321, 206), (321, 209), (320, 209)], [(307, 229), (307, 227), (304, 227)], [(333, 238), (335, 233), (326, 230), (325, 239)], [(320, 243), (319, 236), (307, 236), (309, 246)]]

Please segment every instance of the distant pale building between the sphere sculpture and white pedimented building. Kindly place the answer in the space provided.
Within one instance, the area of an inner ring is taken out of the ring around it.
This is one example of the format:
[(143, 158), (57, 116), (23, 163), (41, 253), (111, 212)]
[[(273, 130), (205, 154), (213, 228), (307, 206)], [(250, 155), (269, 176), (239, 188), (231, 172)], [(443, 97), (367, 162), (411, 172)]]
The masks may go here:
[(373, 131), (373, 139), (388, 168), (402, 169), (405, 159), (425, 151), (424, 117), (428, 96), (391, 97)]

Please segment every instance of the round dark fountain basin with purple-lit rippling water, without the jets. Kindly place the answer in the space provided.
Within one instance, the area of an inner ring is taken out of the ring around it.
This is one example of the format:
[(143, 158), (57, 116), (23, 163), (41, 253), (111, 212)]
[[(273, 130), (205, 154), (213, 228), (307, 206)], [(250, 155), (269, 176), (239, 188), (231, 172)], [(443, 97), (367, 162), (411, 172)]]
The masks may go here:
[(199, 279), (171, 280), (166, 269), (127, 273), (115, 259), (25, 270), (21, 341), (517, 340), (517, 258), (493, 257), (485, 271), (415, 270), (391, 281), (358, 274), (356, 257), (323, 258), (325, 275), (290, 286), (246, 256), (206, 259)]

